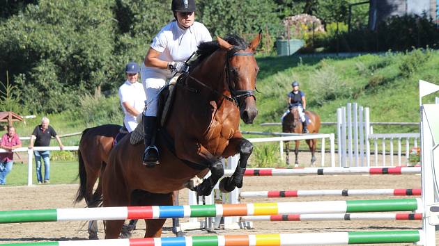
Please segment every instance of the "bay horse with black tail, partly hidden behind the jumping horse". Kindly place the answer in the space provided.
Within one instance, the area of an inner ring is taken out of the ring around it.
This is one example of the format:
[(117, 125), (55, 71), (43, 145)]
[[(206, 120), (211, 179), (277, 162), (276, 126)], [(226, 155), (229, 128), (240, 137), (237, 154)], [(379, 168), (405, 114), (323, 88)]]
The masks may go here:
[[(76, 203), (85, 199), (87, 207), (100, 206), (99, 200), (102, 196), (102, 180), (99, 179), (99, 177), (103, 170), (105, 170), (110, 151), (113, 149), (114, 140), (121, 127), (122, 126), (117, 124), (104, 124), (85, 129), (82, 132), (77, 152), (79, 163), (79, 189), (75, 198)], [(95, 192), (93, 192), (96, 181), (98, 181), (98, 186)], [(145, 195), (142, 193), (141, 191), (135, 193), (136, 201), (133, 201), (134, 204), (141, 203), (139, 200), (141, 201), (141, 197)], [(178, 191), (174, 192), (174, 204), (178, 204)], [(121, 236), (130, 236), (136, 223), (137, 220), (131, 220), (129, 225), (124, 226)], [(180, 236), (181, 231), (177, 231), (178, 226), (178, 219), (173, 220), (173, 232)], [(88, 238), (98, 239), (98, 223), (95, 220), (88, 222)]]

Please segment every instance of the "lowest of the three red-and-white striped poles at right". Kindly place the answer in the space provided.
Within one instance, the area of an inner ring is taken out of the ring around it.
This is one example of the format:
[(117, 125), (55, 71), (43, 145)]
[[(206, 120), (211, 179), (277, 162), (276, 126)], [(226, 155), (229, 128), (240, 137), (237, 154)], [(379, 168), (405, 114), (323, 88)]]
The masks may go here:
[(422, 220), (422, 213), (328, 213), (244, 216), (242, 221)]

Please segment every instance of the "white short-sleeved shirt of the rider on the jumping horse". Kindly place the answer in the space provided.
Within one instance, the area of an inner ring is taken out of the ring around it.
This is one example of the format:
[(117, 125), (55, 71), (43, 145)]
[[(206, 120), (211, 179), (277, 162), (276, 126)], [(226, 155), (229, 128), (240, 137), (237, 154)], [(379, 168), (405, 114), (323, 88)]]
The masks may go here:
[[(186, 61), (192, 53), (197, 51), (201, 42), (210, 42), (212, 37), (206, 26), (199, 22), (194, 22), (190, 28), (183, 29), (178, 26), (176, 21), (169, 22), (160, 30), (151, 44), (151, 48), (160, 52), (158, 57), (165, 61)], [(160, 72), (165, 76), (171, 76), (167, 69), (155, 67), (145, 67), (142, 65), (144, 72)], [(141, 78), (144, 81), (144, 78)]]

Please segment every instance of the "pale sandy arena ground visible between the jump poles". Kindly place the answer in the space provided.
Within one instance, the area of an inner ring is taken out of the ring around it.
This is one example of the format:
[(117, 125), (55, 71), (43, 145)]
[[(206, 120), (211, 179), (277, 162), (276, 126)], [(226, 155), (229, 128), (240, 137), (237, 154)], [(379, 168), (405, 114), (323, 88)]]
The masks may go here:
[[(307, 177), (245, 177), (242, 191), (256, 190), (318, 190), (318, 189), (366, 189), (366, 188), (420, 188), (419, 175), (404, 176), (307, 176)], [(84, 202), (73, 204), (78, 185), (40, 185), (0, 188), (0, 206), (2, 211), (37, 208), (72, 208), (84, 207)], [(395, 197), (307, 197), (279, 199), (242, 199), (241, 202), (305, 202), (319, 200), (344, 199), (392, 199)], [(399, 197), (401, 198), (401, 197)], [(180, 204), (187, 204), (187, 192), (180, 195)], [(182, 220), (185, 222), (187, 220)], [(104, 237), (102, 222), (100, 238)], [(302, 233), (325, 231), (379, 231), (379, 230), (413, 230), (421, 229), (419, 221), (324, 221), (324, 222), (254, 222), (255, 229), (217, 230), (217, 234), (261, 234), (261, 233)], [(139, 222), (134, 231), (135, 238), (144, 236), (144, 221)], [(187, 231), (187, 236), (208, 235), (206, 231)], [(437, 233), (436, 240), (439, 241)], [(164, 228), (164, 237), (171, 233), (171, 220)], [(41, 222), (22, 224), (0, 224), (0, 244), (29, 243), (36, 241), (85, 240), (88, 238), (86, 222)], [(401, 244), (399, 244), (401, 245)]]

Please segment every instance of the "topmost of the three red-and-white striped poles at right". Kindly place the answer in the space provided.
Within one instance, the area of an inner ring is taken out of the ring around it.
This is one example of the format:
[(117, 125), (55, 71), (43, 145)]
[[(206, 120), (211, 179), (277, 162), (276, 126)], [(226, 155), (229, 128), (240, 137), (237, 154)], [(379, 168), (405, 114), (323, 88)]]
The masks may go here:
[[(234, 170), (224, 170), (231, 176)], [(420, 174), (421, 167), (304, 167), (293, 169), (247, 169), (245, 176), (351, 175), (351, 174)]]

